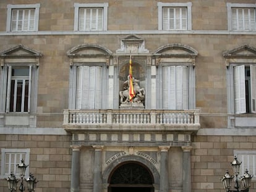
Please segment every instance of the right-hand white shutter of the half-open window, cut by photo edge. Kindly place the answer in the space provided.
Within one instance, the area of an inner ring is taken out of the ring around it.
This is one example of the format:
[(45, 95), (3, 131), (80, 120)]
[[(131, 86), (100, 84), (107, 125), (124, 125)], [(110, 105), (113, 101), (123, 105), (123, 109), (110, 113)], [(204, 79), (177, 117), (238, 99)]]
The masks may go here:
[(250, 93), (252, 113), (256, 113), (256, 67), (250, 65)]

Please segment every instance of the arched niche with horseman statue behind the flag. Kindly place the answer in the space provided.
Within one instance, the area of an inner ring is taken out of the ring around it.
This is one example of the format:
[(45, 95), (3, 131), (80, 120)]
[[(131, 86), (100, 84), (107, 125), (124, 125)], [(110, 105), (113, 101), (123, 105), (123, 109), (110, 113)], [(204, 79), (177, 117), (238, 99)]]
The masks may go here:
[[(143, 82), (145, 82), (145, 73), (143, 72), (143, 68), (140, 65), (133, 64), (132, 67), (132, 85), (134, 86), (135, 96), (132, 101), (129, 100), (129, 88), (130, 88), (130, 75), (129, 75), (129, 64), (124, 65), (120, 71), (120, 81), (119, 81), (119, 96), (120, 96), (120, 108), (127, 107), (139, 107), (141, 109), (144, 108), (145, 102), (145, 88), (142, 88)], [(136, 76), (135, 76), (136, 75)], [(138, 80), (137, 75), (141, 80)], [(126, 80), (124, 81), (124, 77)]]

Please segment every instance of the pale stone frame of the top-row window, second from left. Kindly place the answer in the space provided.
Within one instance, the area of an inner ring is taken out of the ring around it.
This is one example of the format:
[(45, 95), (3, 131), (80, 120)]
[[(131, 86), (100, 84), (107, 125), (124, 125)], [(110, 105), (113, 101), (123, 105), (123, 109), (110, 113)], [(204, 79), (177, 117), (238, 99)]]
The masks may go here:
[[(108, 2), (104, 3), (75, 3), (74, 4), (74, 31), (106, 31), (108, 27)], [(103, 29), (102, 30), (79, 30), (79, 10), (80, 8), (102, 8), (103, 9)]]

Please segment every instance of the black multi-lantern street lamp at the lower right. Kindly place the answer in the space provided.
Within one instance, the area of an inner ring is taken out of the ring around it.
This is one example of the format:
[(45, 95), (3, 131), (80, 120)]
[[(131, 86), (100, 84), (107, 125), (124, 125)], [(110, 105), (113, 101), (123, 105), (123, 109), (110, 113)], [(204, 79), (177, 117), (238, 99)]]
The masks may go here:
[[(223, 177), (221, 177), (221, 181), (223, 182), (224, 189), (227, 192), (234, 192), (234, 191), (248, 192), (249, 191), (250, 182), (252, 180), (253, 175), (250, 175), (247, 169), (245, 170), (244, 175), (242, 175), (241, 177), (242, 186), (243, 186), (243, 188), (241, 189), (238, 183), (238, 175), (239, 175), (239, 169), (241, 164), (242, 162), (239, 162), (237, 160), (237, 157), (235, 156), (234, 161), (231, 162), (234, 175), (229, 175), (229, 171), (227, 170), (226, 174)], [(234, 185), (235, 189), (231, 189), (231, 183), (234, 177), (236, 177), (236, 181), (235, 181), (236, 183)]]

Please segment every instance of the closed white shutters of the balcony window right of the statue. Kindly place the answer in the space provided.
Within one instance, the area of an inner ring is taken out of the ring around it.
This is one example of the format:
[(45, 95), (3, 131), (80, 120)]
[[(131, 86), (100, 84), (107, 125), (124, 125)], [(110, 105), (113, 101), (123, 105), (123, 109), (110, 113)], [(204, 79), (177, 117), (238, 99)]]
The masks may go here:
[(163, 109), (188, 109), (188, 67), (163, 67)]

